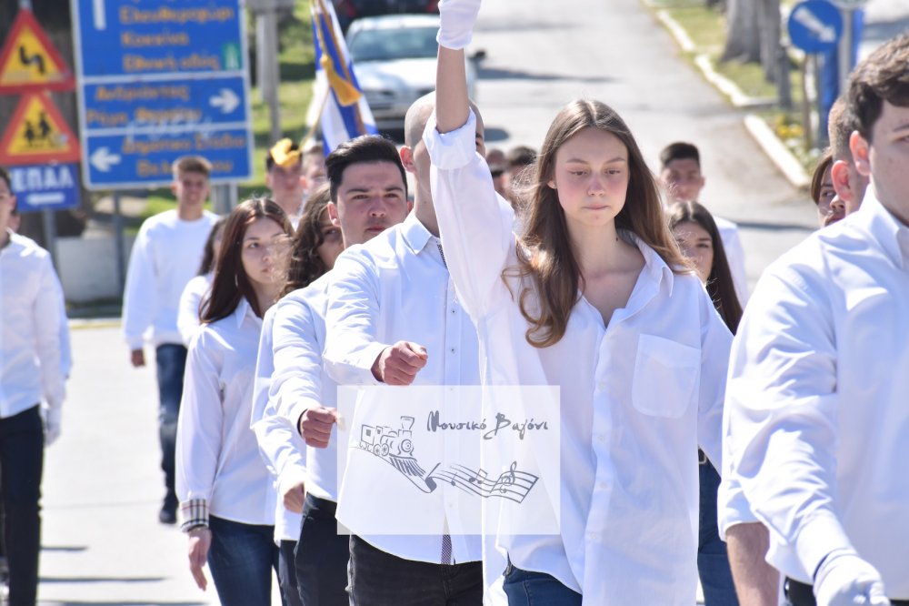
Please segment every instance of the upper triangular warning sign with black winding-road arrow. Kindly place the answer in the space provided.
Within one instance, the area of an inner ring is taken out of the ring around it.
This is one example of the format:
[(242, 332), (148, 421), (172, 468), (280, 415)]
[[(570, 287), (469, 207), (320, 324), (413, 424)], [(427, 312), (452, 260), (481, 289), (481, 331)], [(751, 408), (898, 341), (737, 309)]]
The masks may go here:
[(32, 12), (20, 8), (0, 51), (0, 94), (73, 90), (73, 73)]

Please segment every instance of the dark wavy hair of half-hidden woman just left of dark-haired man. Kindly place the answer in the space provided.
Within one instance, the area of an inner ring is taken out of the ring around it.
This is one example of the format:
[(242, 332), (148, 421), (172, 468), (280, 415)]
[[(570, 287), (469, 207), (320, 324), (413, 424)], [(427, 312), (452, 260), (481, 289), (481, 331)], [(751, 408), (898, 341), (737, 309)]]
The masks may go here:
[(303, 216), (296, 226), (281, 297), (297, 288), (309, 286), (328, 271), (325, 262), (319, 256), (319, 247), (325, 243), (325, 237), (322, 235), (322, 217), (327, 212), (331, 200), (331, 186), (327, 182), (317, 187), (306, 200)]

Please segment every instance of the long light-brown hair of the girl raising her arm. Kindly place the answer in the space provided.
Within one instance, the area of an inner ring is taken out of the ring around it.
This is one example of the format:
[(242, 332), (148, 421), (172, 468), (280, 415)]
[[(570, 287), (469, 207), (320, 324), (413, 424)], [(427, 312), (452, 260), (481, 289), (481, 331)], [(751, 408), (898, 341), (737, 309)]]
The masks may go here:
[[(581, 268), (574, 256), (558, 193), (548, 186), (548, 182), (554, 177), (556, 153), (584, 128), (612, 133), (628, 150), (628, 190), (624, 207), (615, 217), (616, 229), (630, 231), (641, 238), (674, 271), (686, 267), (682, 253), (666, 227), (654, 174), (644, 162), (628, 126), (604, 103), (573, 101), (555, 116), (536, 158), (531, 185), (526, 192), (526, 227), (518, 246), (520, 273), (529, 276), (534, 284), (533, 292), (524, 288), (518, 299), (521, 313), (530, 323), (525, 338), (538, 348), (554, 345), (564, 337), (572, 308), (579, 300)], [(528, 305), (532, 295), (539, 308), (538, 315)]]

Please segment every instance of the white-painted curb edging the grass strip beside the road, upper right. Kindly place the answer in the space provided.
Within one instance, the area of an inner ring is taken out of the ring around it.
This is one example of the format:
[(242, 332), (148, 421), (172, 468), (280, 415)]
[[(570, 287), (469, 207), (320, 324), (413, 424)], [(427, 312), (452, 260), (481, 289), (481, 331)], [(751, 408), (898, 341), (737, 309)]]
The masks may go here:
[[(650, 0), (642, 0), (645, 6), (655, 8)], [(656, 19), (664, 25), (673, 36), (676, 44), (685, 53), (694, 53), (695, 46), (691, 36), (679, 25), (675, 19), (664, 10), (656, 11)], [(775, 99), (747, 96), (742, 89), (735, 85), (729, 78), (719, 74), (710, 62), (710, 57), (700, 54), (694, 57), (694, 65), (701, 70), (704, 79), (714, 88), (719, 90), (729, 99), (729, 102), (738, 109), (755, 109), (760, 107), (774, 106)], [(754, 140), (757, 142), (764, 154), (770, 158), (770, 161), (783, 173), (784, 177), (799, 189), (807, 189), (811, 185), (811, 177), (805, 172), (804, 167), (798, 161), (789, 148), (780, 140), (774, 130), (764, 122), (764, 119), (754, 114), (744, 116), (744, 127)]]

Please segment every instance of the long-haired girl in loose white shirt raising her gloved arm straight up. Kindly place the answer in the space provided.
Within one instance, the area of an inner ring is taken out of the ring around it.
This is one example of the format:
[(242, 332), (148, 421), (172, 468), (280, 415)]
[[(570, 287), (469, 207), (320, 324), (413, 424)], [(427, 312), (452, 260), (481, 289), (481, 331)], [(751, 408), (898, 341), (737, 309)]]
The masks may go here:
[[(484, 384), (559, 386), (562, 426), (560, 534), (494, 536), (485, 582), (504, 575), (509, 604), (694, 603), (697, 448), (721, 464), (731, 335), (634, 137), (602, 103), (555, 117), (514, 237), (471, 145), (463, 49), (479, 8), (440, 5), (424, 140), (442, 243), (478, 327)], [(484, 521), (493, 532), (501, 522)]]

